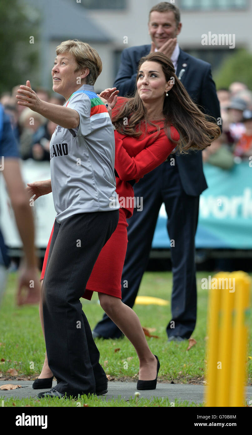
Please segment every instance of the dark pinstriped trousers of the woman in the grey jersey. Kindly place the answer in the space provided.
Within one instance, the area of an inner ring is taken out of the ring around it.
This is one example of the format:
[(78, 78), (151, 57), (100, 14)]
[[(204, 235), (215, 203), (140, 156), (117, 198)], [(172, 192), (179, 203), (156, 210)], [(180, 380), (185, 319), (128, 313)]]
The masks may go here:
[(106, 382), (80, 297), (119, 210), (74, 214), (55, 221), (42, 285), (48, 364), (67, 395), (94, 393)]

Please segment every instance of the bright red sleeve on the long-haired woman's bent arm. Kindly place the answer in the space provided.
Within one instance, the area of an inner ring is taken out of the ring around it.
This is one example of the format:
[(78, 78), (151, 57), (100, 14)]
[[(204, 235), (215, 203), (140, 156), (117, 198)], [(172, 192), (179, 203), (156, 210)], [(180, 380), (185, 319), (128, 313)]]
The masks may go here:
[[(171, 136), (174, 141), (179, 140), (179, 133), (175, 127), (171, 127)], [(115, 143), (115, 169), (119, 178), (123, 181), (134, 179), (136, 182), (163, 163), (176, 147), (176, 143), (169, 141), (163, 130), (160, 131), (156, 141), (140, 151), (136, 157), (129, 156), (117, 131), (115, 131)]]

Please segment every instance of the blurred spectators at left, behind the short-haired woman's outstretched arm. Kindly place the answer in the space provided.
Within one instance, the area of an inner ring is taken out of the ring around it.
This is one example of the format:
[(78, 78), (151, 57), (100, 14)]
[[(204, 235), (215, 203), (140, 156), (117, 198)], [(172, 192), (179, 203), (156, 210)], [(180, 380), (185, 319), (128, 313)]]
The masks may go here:
[[(56, 124), (46, 120), (42, 115), (33, 112), (29, 107), (17, 104), (17, 90), (13, 87), (11, 93), (1, 95), (0, 103), (9, 114), (13, 131), (19, 145), (20, 157), (23, 160), (32, 158), (36, 161), (50, 161), (50, 139)], [(53, 96), (45, 89), (35, 89), (38, 97), (49, 103), (63, 105), (65, 99), (61, 95)]]

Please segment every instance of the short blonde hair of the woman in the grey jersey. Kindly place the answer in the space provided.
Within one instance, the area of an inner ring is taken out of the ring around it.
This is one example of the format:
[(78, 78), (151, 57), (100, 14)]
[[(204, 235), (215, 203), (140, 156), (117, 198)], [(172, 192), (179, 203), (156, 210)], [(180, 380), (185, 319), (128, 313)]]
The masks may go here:
[(103, 64), (97, 51), (86, 42), (70, 39), (63, 41), (56, 47), (57, 56), (63, 53), (69, 53), (75, 58), (78, 68), (74, 72), (77, 72), (81, 68), (88, 68), (90, 70), (90, 73), (86, 76), (86, 84), (94, 85), (103, 69)]

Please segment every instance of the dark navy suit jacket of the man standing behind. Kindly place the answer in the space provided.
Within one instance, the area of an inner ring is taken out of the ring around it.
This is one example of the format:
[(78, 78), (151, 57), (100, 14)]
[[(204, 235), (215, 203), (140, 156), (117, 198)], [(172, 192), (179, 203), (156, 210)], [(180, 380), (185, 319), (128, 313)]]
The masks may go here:
[[(121, 97), (133, 95), (136, 90), (136, 75), (141, 57), (149, 54), (150, 45), (140, 45), (126, 48), (122, 52), (121, 64), (113, 86), (119, 90)], [(182, 64), (187, 64), (182, 67)], [(180, 70), (186, 71), (182, 75), (181, 83), (185, 86), (192, 100), (202, 112), (220, 117), (219, 100), (216, 94), (215, 83), (212, 80), (211, 65), (203, 60), (196, 59), (180, 49), (176, 75)], [(168, 97), (169, 98), (169, 97)], [(202, 168), (201, 151), (176, 157), (179, 176), (186, 194), (198, 196), (207, 188)]]

